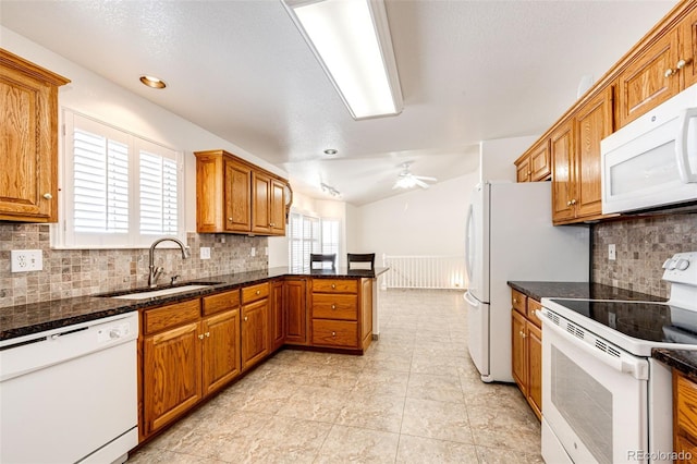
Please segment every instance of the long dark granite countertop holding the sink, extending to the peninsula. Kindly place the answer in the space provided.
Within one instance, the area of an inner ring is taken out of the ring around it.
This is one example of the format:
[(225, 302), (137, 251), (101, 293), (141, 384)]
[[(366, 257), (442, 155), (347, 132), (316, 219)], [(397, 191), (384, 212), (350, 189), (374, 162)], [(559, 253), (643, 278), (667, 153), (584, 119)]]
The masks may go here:
[[(211, 276), (204, 279), (187, 281), (186, 283), (218, 282), (205, 289), (193, 290), (147, 300), (119, 300), (99, 295), (77, 296), (74, 298), (54, 300), (42, 303), (30, 303), (0, 308), (0, 341), (17, 337), (30, 335), (46, 330), (72, 326), (103, 317), (138, 310), (151, 306), (160, 306), (179, 301), (200, 297), (225, 290), (234, 290), (242, 285), (261, 283), (271, 279), (297, 276), (313, 278), (377, 278), (388, 271), (388, 268), (375, 270), (337, 270), (321, 269), (289, 269), (286, 267), (270, 268), (259, 271), (240, 272), (235, 274)], [(162, 285), (158, 289), (164, 289)], [(136, 289), (123, 289), (136, 290)], [(110, 292), (113, 293), (113, 292)], [(121, 292), (127, 293), (127, 292)]]

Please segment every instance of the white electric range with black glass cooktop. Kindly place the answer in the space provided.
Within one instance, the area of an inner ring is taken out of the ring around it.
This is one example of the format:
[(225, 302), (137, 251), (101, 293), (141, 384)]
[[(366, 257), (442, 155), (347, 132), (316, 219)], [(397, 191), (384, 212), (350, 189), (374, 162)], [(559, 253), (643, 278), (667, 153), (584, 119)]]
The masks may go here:
[(671, 370), (651, 350), (697, 351), (697, 252), (676, 254), (663, 268), (665, 303), (542, 298), (546, 462), (676, 459)]

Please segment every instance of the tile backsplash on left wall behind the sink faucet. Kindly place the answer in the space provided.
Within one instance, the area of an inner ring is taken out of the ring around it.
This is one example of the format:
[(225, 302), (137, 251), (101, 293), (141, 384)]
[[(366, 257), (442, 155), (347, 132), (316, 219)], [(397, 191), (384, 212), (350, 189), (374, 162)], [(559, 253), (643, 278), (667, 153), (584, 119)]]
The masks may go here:
[[(154, 239), (155, 240), (155, 239)], [(191, 259), (179, 248), (158, 245), (155, 264), (179, 280), (201, 279), (268, 267), (268, 239), (232, 234), (187, 233)], [(200, 247), (211, 259), (200, 259)], [(252, 256), (252, 248), (255, 256)], [(40, 249), (44, 270), (10, 272), (10, 251)], [(147, 285), (148, 249), (51, 249), (48, 224), (0, 223), (0, 307), (90, 295)]]

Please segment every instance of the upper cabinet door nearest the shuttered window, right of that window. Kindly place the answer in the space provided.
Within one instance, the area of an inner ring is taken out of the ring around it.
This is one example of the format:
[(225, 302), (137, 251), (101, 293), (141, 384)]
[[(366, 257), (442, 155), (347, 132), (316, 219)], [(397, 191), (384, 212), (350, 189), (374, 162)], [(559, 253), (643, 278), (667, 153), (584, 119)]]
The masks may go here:
[(252, 169), (231, 159), (225, 159), (224, 220), (227, 231), (249, 232), (252, 230)]

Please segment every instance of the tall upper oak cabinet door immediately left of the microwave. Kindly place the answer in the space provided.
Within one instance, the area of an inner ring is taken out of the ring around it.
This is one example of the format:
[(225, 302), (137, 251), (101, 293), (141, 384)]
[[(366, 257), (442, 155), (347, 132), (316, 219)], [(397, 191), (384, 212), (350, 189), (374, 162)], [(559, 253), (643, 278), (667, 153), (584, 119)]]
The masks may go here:
[(600, 141), (612, 134), (612, 88), (580, 108), (574, 118), (576, 218), (602, 213)]

